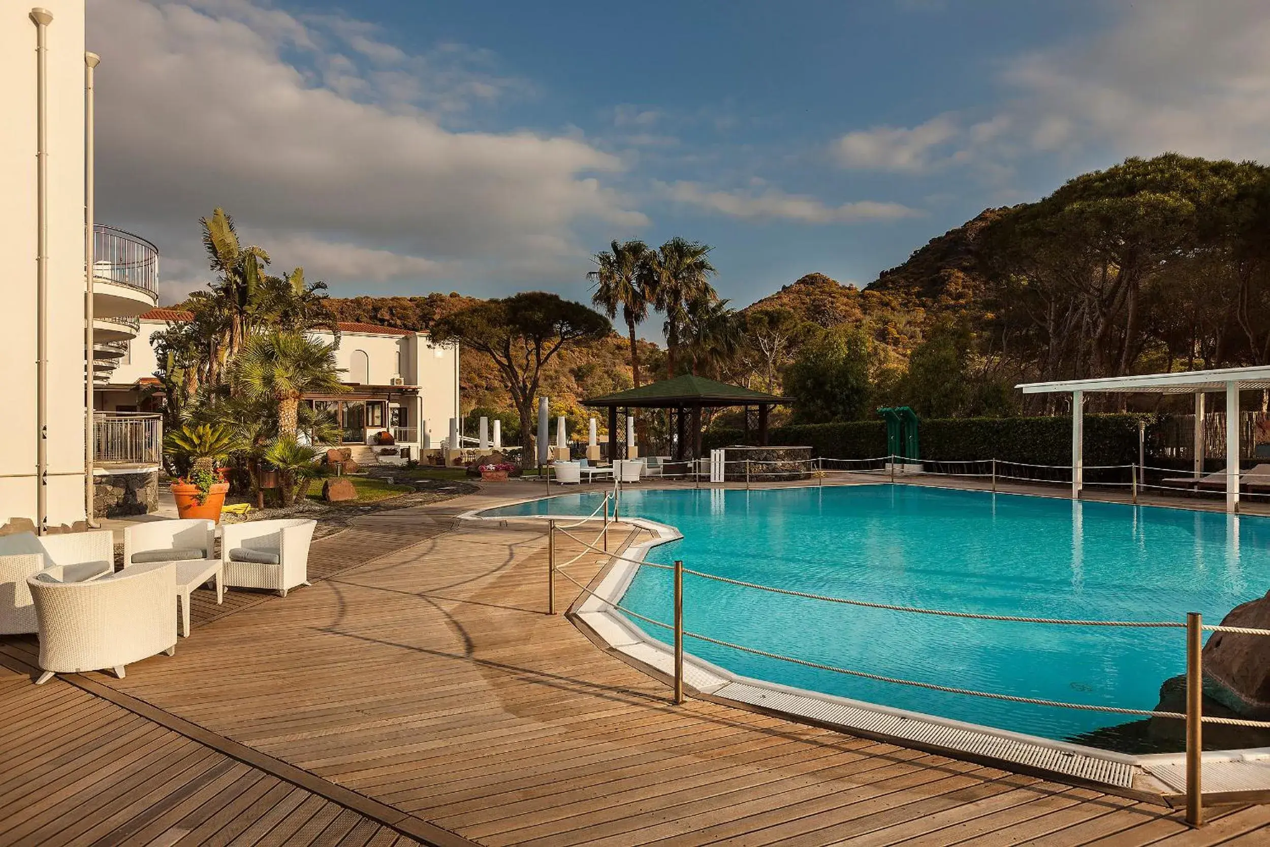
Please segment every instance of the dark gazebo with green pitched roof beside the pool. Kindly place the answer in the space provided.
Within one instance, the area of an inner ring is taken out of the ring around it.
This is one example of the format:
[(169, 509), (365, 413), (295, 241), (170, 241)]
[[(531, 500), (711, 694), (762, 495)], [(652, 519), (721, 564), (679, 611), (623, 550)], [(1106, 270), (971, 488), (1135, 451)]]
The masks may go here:
[[(608, 456), (617, 457), (617, 410), (618, 409), (671, 409), (677, 411), (678, 442), (676, 460), (683, 460), (687, 415), (692, 417), (692, 456), (701, 456), (701, 410), (726, 406), (758, 406), (758, 441), (767, 443), (767, 415), (771, 408), (787, 403), (785, 397), (773, 394), (752, 391), (738, 385), (728, 385), (704, 376), (686, 373), (673, 380), (650, 382), (638, 389), (618, 391), (603, 397), (583, 400), (582, 405), (608, 409)], [(745, 415), (748, 436), (749, 415)]]

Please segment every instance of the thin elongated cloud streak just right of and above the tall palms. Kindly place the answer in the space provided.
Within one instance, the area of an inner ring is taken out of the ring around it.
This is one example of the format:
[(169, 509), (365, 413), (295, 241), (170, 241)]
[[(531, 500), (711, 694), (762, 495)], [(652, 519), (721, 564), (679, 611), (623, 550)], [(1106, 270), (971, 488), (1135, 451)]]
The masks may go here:
[(759, 192), (711, 190), (701, 183), (655, 183), (664, 197), (677, 203), (695, 206), (720, 215), (740, 218), (781, 218), (803, 223), (860, 223), (894, 221), (921, 215), (900, 203), (856, 201), (828, 206), (805, 194), (786, 194), (775, 188)]

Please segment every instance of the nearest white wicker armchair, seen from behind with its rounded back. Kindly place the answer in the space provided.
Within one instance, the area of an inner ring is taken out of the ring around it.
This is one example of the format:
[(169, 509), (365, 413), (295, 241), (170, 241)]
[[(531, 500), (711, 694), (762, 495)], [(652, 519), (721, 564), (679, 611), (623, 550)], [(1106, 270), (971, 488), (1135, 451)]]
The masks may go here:
[[(109, 533), (107, 533), (109, 535)], [(86, 583), (27, 578), (39, 624), (37, 684), (55, 673), (113, 668), (177, 651), (177, 565), (136, 565)]]

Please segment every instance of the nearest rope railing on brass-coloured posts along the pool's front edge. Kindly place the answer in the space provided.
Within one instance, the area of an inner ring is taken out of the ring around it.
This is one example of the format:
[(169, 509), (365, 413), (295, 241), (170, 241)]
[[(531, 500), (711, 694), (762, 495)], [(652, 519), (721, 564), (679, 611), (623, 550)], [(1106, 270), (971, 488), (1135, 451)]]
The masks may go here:
[[(617, 495), (620, 497), (620, 494)], [(674, 677), (673, 677), (673, 696), (672, 702), (682, 704), (685, 702), (685, 686), (683, 686), (683, 639), (696, 639), (706, 644), (715, 644), (718, 646), (740, 650), (752, 655), (761, 655), (768, 659), (777, 659), (781, 662), (789, 662), (792, 664), (815, 668), (818, 670), (827, 670), (832, 673), (841, 673), (850, 677), (857, 677), (862, 679), (870, 679), (875, 682), (884, 682), (898, 686), (911, 686), (917, 688), (927, 688), (932, 691), (941, 691), (946, 693), (965, 695), (970, 697), (984, 697), (988, 700), (1005, 700), (1017, 704), (1031, 704), (1039, 706), (1050, 706), (1057, 709), (1074, 709), (1080, 711), (1102, 711), (1116, 715), (1133, 715), (1139, 717), (1162, 717), (1171, 720), (1182, 720), (1186, 723), (1186, 822), (1193, 827), (1200, 827), (1204, 822), (1204, 799), (1203, 799), (1203, 768), (1201, 768), (1201, 753), (1203, 753), (1203, 726), (1204, 724), (1223, 724), (1228, 726), (1247, 726), (1253, 729), (1270, 729), (1270, 721), (1264, 720), (1243, 720), (1238, 717), (1217, 717), (1213, 715), (1203, 714), (1203, 635), (1204, 632), (1231, 632), (1236, 635), (1250, 635), (1250, 636), (1270, 636), (1270, 630), (1250, 629), (1241, 626), (1209, 626), (1203, 622), (1199, 612), (1189, 612), (1185, 621), (1082, 621), (1082, 620), (1066, 620), (1066, 618), (1048, 618), (1048, 617), (1020, 617), (1020, 616), (1007, 616), (1007, 615), (980, 615), (974, 612), (960, 612), (950, 610), (933, 610), (933, 608), (916, 608), (908, 606), (894, 606), (889, 603), (874, 603), (861, 599), (850, 599), (842, 597), (831, 597), (824, 594), (813, 594), (808, 592), (790, 590), (784, 588), (773, 588), (770, 585), (761, 585), (757, 583), (743, 582), (739, 579), (730, 579), (726, 577), (719, 577), (716, 574), (707, 574), (698, 570), (690, 570), (683, 566), (682, 560), (676, 560), (674, 565), (663, 565), (658, 563), (644, 561), (641, 559), (629, 559), (618, 554), (612, 554), (610, 556), (611, 561), (626, 561), (640, 568), (653, 568), (658, 570), (673, 571), (674, 579), (674, 621), (667, 624), (664, 621), (658, 621), (652, 617), (640, 615), (630, 608), (622, 606), (618, 601), (613, 601), (607, 597), (602, 597), (596, 593), (592, 588), (583, 584), (582, 582), (574, 579), (563, 569), (587, 555), (594, 555), (597, 552), (608, 552), (608, 502), (610, 495), (605, 494), (605, 500), (596, 510), (588, 517), (582, 518), (572, 524), (559, 524), (556, 518), (547, 522), (547, 613), (555, 615), (555, 575), (559, 573), (566, 580), (573, 583), (582, 593), (594, 596), (598, 599), (607, 603), (613, 610), (617, 610), (635, 620), (650, 624), (653, 626), (660, 627), (663, 630), (669, 630), (673, 634), (673, 657), (674, 657)], [(603, 549), (596, 546), (596, 541), (599, 541), (601, 536), (597, 536), (591, 542), (579, 538), (578, 536), (569, 532), (569, 530), (577, 528), (591, 521), (597, 519), (596, 514), (603, 508), (603, 528), (601, 535), (603, 536)], [(617, 507), (615, 503), (612, 522), (617, 521)], [(556, 535), (561, 535), (575, 544), (582, 546), (582, 552), (565, 563), (556, 563)], [(1005, 621), (1015, 624), (1034, 624), (1045, 626), (1096, 626), (1096, 627), (1144, 627), (1144, 629), (1180, 629), (1185, 631), (1185, 655), (1186, 655), (1186, 706), (1185, 712), (1173, 711), (1157, 711), (1148, 709), (1125, 709), (1119, 706), (1101, 706), (1095, 704), (1077, 704), (1067, 702), (1060, 700), (1044, 700), (1039, 697), (1021, 697), (1017, 695), (991, 692), (991, 691), (975, 691), (973, 688), (963, 688), (958, 686), (923, 682), (918, 679), (902, 679), (897, 677), (888, 677), (878, 673), (870, 673), (867, 670), (855, 669), (855, 668), (842, 668), (833, 664), (809, 662), (806, 659), (799, 659), (796, 657), (789, 657), (780, 653), (772, 653), (768, 650), (759, 650), (757, 648), (745, 646), (742, 644), (735, 644), (732, 641), (724, 641), (721, 639), (715, 639), (701, 632), (691, 632), (683, 626), (683, 577), (691, 575), (702, 580), (712, 580), (726, 583), (729, 585), (737, 585), (740, 588), (762, 590), (773, 594), (785, 594), (789, 597), (799, 597), (803, 599), (822, 601), (827, 603), (838, 603), (845, 606), (856, 606), (864, 608), (876, 608), (886, 610), (899, 613), (909, 615), (933, 615), (939, 617), (956, 617), (968, 618), (975, 621)]]

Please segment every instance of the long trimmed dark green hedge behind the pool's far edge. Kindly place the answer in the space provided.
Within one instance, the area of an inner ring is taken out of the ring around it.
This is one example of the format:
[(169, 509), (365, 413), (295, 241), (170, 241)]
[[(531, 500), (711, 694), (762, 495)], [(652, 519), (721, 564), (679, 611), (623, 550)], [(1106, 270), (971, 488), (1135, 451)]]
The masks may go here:
[[(1138, 461), (1138, 422), (1149, 415), (1085, 415), (1085, 464), (1126, 465)], [(740, 429), (709, 429), (702, 450), (739, 444)], [(1055, 418), (935, 418), (918, 423), (922, 458), (999, 458), (1036, 465), (1072, 464), (1072, 419)], [(886, 455), (886, 424), (850, 420), (828, 424), (773, 427), (771, 444), (809, 444), (813, 456), (874, 458)]]

